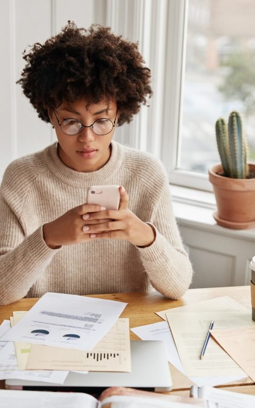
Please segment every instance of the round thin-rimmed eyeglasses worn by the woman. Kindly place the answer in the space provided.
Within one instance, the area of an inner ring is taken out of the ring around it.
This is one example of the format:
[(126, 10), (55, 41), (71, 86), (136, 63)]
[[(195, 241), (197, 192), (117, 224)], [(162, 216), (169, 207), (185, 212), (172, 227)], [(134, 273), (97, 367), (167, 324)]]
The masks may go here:
[(101, 118), (101, 119), (95, 120), (92, 124), (88, 126), (82, 124), (79, 120), (74, 119), (74, 118), (65, 119), (63, 120), (63, 122), (60, 123), (54, 109), (53, 109), (53, 112), (55, 113), (56, 119), (58, 121), (58, 125), (61, 127), (62, 132), (64, 132), (66, 135), (70, 135), (70, 136), (78, 135), (79, 133), (82, 132), (84, 127), (91, 127), (92, 132), (94, 132), (96, 135), (104, 136), (112, 132), (115, 126), (115, 121), (116, 121), (118, 110), (116, 112), (114, 122), (112, 122), (110, 119), (107, 119), (107, 118)]

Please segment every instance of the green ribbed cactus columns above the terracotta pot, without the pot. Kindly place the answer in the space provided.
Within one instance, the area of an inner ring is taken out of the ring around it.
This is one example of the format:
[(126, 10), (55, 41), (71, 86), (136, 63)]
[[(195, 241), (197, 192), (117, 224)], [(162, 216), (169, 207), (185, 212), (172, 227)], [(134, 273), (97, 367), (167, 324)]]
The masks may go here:
[(238, 112), (231, 112), (228, 126), (224, 119), (217, 120), (216, 139), (224, 176), (246, 179), (249, 173), (247, 144)]

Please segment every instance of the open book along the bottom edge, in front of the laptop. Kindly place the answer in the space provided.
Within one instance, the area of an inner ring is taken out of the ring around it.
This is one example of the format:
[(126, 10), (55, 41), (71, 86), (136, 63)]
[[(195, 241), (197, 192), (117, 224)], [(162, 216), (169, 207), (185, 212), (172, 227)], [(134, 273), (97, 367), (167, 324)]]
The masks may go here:
[(1, 408), (188, 408), (206, 407), (206, 402), (189, 397), (179, 397), (139, 391), (132, 388), (112, 387), (98, 399), (83, 393), (0, 390)]

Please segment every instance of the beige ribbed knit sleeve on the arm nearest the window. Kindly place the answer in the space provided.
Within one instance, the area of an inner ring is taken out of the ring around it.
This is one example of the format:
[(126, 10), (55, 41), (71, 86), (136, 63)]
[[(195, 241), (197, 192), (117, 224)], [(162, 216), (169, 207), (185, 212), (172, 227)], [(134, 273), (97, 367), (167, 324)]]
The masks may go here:
[(172, 211), (168, 175), (155, 157), (140, 154), (138, 166), (132, 153), (126, 153), (126, 167), (133, 172), (133, 180), (137, 179), (131, 194), (146, 191), (139, 206), (146, 208), (143, 221), (156, 231), (155, 241), (148, 247), (137, 247), (137, 251), (151, 285), (165, 296), (179, 299), (188, 289), (193, 272)]

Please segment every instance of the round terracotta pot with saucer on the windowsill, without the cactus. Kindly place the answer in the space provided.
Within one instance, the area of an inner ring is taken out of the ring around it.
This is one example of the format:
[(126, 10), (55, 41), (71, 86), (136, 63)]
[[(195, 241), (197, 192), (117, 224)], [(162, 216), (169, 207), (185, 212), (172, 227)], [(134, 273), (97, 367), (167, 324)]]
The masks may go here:
[[(255, 171), (255, 164), (249, 164)], [(213, 185), (218, 211), (214, 218), (219, 225), (234, 230), (245, 230), (255, 226), (255, 179), (231, 179), (220, 175), (222, 166), (209, 169), (209, 180)]]

